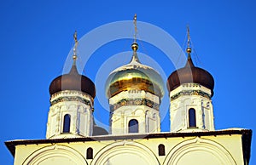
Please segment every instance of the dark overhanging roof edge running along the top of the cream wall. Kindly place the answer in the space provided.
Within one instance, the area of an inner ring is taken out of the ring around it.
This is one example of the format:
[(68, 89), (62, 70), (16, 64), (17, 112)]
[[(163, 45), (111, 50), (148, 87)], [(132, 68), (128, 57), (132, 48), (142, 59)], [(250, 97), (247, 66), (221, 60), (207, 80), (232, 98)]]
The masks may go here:
[(15, 157), (15, 146), (17, 145), (41, 145), (41, 144), (63, 144), (63, 143), (78, 143), (78, 142), (90, 142), (90, 141), (108, 141), (108, 140), (134, 140), (134, 139), (172, 139), (172, 138), (184, 138), (184, 137), (195, 137), (195, 136), (218, 136), (218, 135), (232, 135), (241, 134), (242, 135), (242, 148), (243, 151), (248, 155), (247, 160), (249, 160), (249, 153), (251, 148), (252, 140), (252, 129), (224, 129), (218, 131), (206, 131), (206, 132), (193, 132), (193, 133), (156, 133), (156, 134), (122, 134), (122, 135), (104, 135), (95, 137), (84, 137), (84, 138), (67, 138), (67, 139), (19, 139), (5, 141), (5, 145)]

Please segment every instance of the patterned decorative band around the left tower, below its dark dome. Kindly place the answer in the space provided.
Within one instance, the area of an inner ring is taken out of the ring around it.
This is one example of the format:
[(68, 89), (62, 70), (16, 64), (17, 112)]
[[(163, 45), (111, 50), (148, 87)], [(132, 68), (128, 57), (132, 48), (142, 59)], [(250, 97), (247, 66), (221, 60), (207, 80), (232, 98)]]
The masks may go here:
[(85, 100), (84, 98), (81, 98), (79, 96), (62, 96), (53, 101), (50, 101), (50, 105), (52, 106), (57, 103), (66, 102), (66, 101), (78, 101), (78, 102), (84, 103), (85, 105), (89, 105), (91, 107), (91, 102), (89, 100)]

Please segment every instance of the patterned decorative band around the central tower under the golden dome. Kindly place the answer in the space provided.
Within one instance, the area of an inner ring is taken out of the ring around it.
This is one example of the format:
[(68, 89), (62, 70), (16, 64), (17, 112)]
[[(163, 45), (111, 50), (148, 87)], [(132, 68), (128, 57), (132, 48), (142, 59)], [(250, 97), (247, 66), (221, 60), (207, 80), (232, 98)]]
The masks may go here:
[(157, 103), (154, 103), (152, 100), (148, 99), (122, 99), (119, 100), (116, 104), (110, 105), (110, 111), (115, 111), (121, 106), (125, 105), (146, 105), (149, 108), (153, 108), (155, 110), (159, 110), (160, 105)]

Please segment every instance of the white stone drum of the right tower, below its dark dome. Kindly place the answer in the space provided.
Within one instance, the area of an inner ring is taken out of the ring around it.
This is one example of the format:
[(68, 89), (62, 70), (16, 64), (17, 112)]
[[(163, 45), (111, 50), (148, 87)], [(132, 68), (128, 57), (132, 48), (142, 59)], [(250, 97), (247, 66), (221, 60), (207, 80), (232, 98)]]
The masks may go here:
[[(214, 130), (210, 89), (197, 83), (183, 83), (170, 92), (170, 100), (171, 132)], [(189, 126), (191, 109), (195, 110), (194, 127)]]

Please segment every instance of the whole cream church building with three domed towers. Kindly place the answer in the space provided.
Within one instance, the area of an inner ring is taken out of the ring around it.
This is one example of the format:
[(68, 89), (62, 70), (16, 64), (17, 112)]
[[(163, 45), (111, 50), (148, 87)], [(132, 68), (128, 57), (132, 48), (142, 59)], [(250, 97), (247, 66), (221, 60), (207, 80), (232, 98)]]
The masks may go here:
[[(136, 21), (136, 17), (135, 17)], [(188, 32), (186, 64), (164, 82), (139, 60), (137, 38), (131, 61), (109, 73), (105, 93), (109, 127), (94, 122), (96, 86), (73, 65), (49, 85), (46, 139), (6, 141), (15, 165), (247, 165), (252, 130), (215, 130), (214, 79), (195, 66)], [(160, 130), (160, 104), (167, 84), (170, 131)]]

